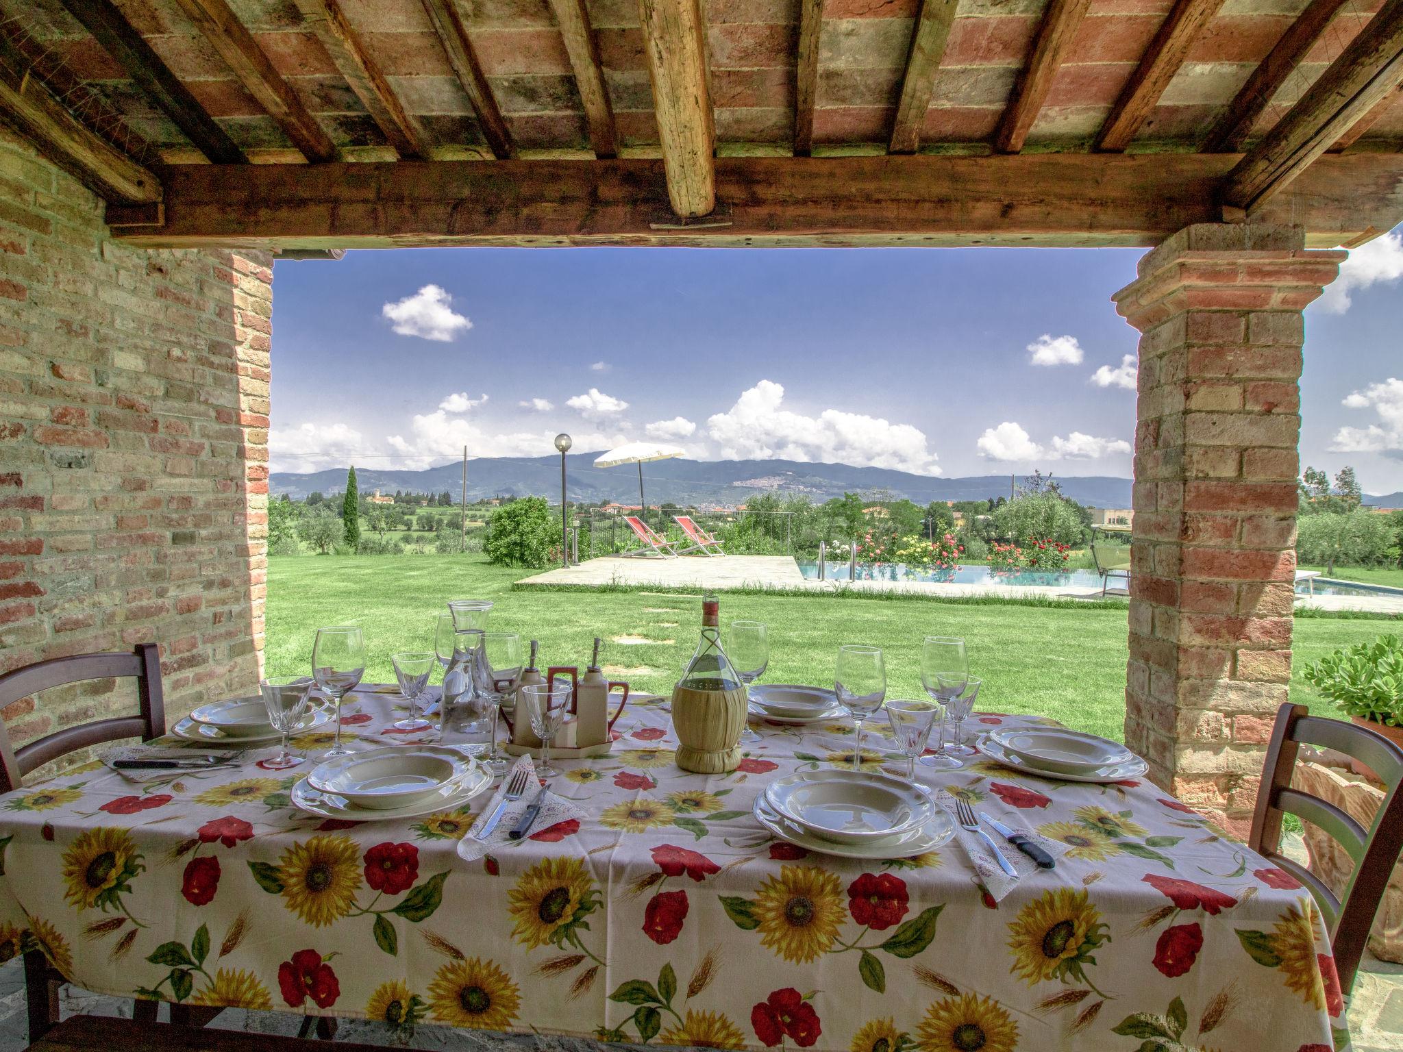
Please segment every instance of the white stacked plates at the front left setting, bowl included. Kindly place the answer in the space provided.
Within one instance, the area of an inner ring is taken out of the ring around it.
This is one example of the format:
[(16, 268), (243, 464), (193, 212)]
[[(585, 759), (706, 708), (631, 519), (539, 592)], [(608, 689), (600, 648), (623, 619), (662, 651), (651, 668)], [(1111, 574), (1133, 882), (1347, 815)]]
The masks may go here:
[(292, 787), (292, 802), (323, 818), (370, 822), (462, 807), (492, 776), (457, 749), (389, 745), (335, 756)]

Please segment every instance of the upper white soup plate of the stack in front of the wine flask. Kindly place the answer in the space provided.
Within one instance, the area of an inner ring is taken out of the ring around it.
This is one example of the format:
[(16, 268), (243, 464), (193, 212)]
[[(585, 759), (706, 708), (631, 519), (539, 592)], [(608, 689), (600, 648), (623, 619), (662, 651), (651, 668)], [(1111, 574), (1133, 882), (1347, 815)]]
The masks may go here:
[(925, 791), (877, 771), (804, 771), (772, 781), (763, 795), (787, 822), (847, 844), (899, 836), (925, 825), (934, 812)]

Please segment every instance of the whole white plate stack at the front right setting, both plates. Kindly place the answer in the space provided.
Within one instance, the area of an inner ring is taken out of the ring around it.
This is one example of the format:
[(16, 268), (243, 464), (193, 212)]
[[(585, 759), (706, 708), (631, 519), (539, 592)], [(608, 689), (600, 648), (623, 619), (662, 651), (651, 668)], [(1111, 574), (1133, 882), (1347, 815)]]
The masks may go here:
[(954, 835), (919, 785), (887, 774), (821, 770), (791, 774), (755, 798), (755, 818), (781, 840), (849, 858), (902, 858)]

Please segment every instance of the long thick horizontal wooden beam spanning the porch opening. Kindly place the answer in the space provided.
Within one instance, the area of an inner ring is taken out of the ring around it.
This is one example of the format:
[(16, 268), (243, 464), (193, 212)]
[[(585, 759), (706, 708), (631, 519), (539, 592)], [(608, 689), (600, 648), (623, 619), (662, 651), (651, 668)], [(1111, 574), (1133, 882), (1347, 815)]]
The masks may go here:
[[(1219, 222), (1230, 154), (720, 157), (725, 210), (679, 224), (658, 160), (167, 170), (154, 247), (1152, 245)], [(1403, 219), (1403, 156), (1323, 157), (1264, 210), (1336, 245)]]

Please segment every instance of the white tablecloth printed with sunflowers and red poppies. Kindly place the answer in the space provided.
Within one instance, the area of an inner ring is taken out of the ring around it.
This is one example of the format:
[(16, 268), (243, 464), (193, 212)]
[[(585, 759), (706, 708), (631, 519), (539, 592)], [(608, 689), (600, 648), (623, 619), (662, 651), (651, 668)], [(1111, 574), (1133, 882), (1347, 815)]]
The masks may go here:
[[(396, 741), (391, 708), (352, 696), (345, 731)], [(630, 701), (610, 756), (565, 764), (553, 788), (584, 821), (476, 863), (455, 850), (471, 808), (323, 821), (289, 807), (306, 767), (257, 766), (271, 750), (143, 785), (95, 767), (20, 790), (0, 798), (0, 957), (36, 945), (101, 993), (390, 1031), (852, 1052), (1343, 1044), (1306, 891), (1153, 785), (923, 769), (1069, 846), (993, 903), (954, 843), (860, 863), (760, 830), (755, 794), (847, 762), (846, 725), (765, 727), (739, 770), (700, 776), (673, 766), (666, 708)], [(882, 764), (887, 741), (868, 741), (864, 763)]]

